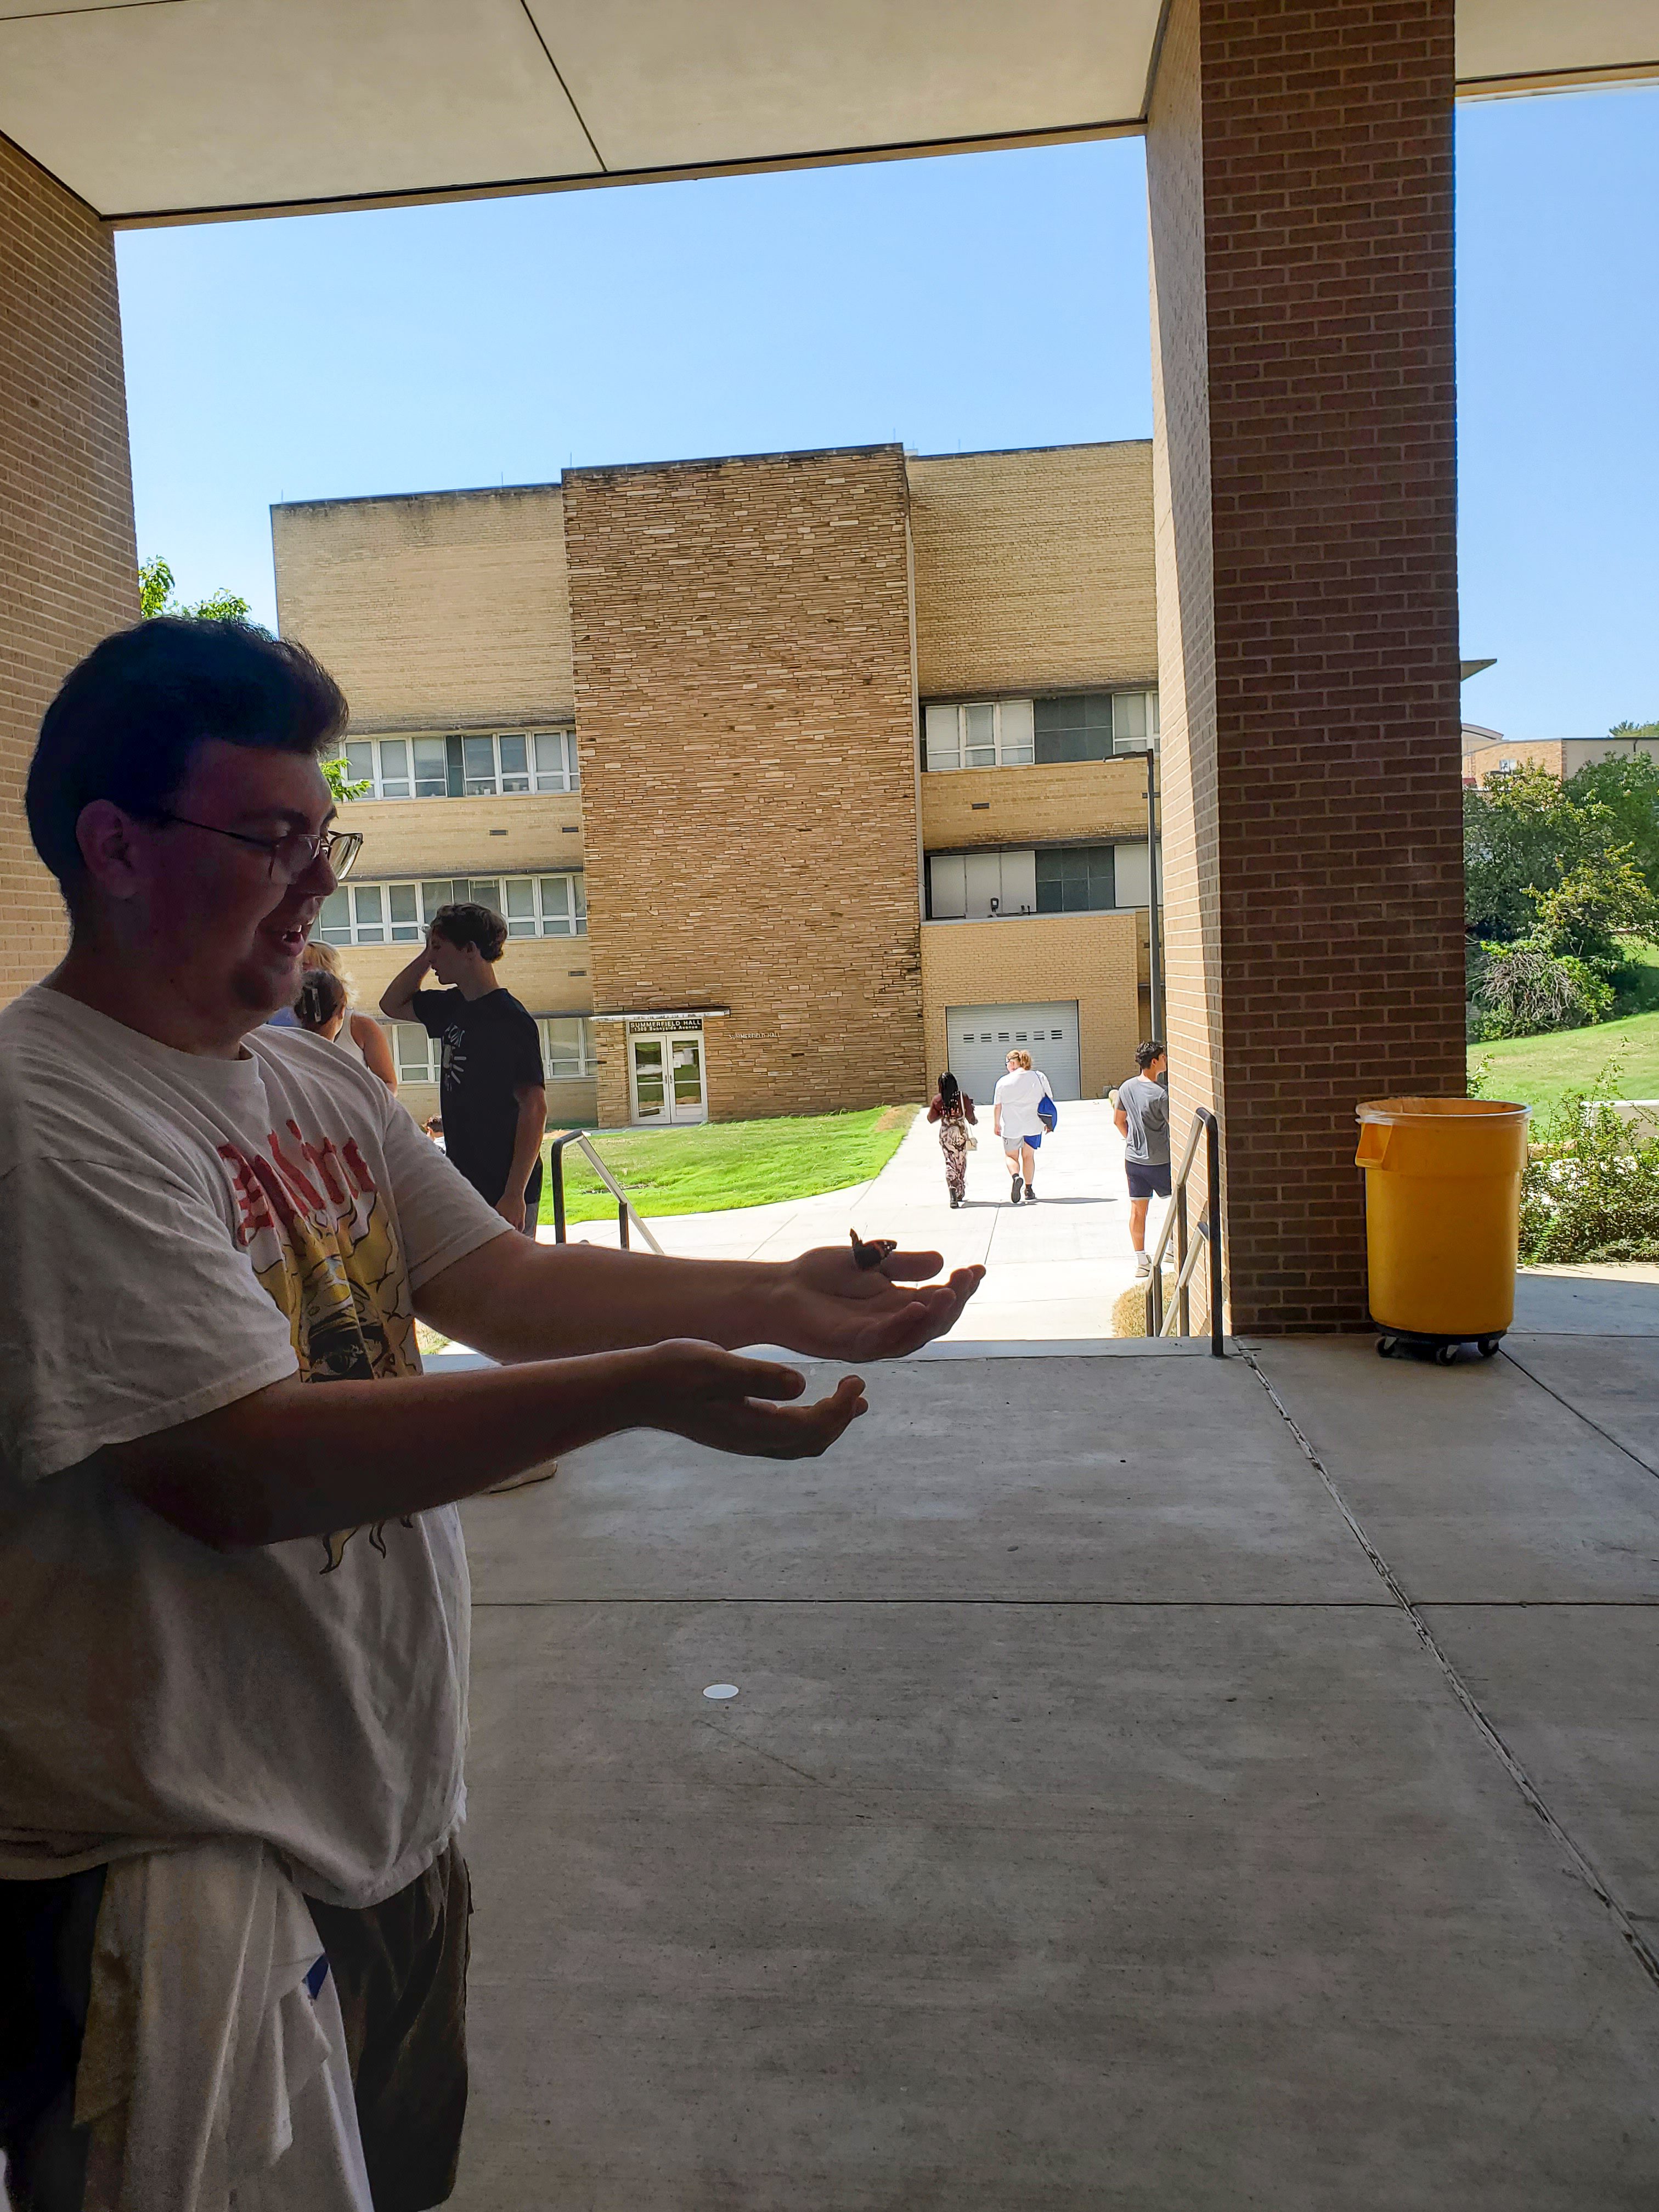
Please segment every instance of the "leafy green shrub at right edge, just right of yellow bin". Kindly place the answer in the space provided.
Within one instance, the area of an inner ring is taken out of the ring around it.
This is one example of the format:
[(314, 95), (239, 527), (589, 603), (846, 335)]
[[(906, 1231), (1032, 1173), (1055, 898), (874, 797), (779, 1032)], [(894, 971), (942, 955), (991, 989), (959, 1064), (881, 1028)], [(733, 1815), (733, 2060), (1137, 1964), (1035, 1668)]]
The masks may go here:
[(1522, 1175), (1522, 1261), (1659, 1259), (1659, 1137), (1613, 1110), (1621, 1060), (1533, 1124)]

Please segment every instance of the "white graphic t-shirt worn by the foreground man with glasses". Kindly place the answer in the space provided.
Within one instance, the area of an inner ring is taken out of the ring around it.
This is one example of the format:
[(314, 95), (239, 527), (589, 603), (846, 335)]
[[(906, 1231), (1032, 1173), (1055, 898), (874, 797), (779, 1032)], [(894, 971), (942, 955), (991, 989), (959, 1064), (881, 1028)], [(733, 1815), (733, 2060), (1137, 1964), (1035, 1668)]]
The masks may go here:
[(175, 1053), (0, 1013), (0, 1876), (263, 1836), (372, 1905), (465, 1809), (453, 1506), (219, 1553), (84, 1462), (301, 1374), (418, 1374), (411, 1292), (507, 1223), (296, 1029)]

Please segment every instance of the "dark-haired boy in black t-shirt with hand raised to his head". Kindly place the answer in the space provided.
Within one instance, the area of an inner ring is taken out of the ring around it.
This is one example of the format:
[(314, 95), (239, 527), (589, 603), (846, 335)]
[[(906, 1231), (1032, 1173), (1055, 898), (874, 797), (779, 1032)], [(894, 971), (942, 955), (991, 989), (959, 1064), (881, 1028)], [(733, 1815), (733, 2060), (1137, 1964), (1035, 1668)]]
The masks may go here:
[[(515, 1230), (535, 1234), (546, 1088), (533, 1015), (495, 982), (507, 922), (489, 907), (438, 907), (427, 947), (380, 1000), (394, 1022), (442, 1037), (445, 1150)], [(440, 991), (422, 991), (427, 975)]]

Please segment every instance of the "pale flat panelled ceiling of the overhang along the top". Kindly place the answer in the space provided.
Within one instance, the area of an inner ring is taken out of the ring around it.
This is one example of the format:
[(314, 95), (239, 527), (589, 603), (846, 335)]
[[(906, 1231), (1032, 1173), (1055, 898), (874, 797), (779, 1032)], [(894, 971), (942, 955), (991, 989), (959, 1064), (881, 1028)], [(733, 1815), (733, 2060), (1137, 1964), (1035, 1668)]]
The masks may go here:
[[(115, 221), (1135, 131), (1159, 0), (0, 0), (0, 131)], [(1460, 0), (1471, 91), (1659, 0)]]

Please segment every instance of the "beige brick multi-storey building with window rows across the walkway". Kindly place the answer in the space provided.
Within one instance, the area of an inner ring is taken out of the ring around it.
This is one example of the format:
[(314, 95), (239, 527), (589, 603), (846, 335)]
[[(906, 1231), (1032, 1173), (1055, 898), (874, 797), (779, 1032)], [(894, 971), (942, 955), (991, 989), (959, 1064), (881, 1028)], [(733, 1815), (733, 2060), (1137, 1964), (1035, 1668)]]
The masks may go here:
[[(1150, 445), (900, 447), (279, 507), (281, 628), (352, 701), (323, 916), (374, 1004), (507, 914), (555, 1121), (1060, 1097), (1148, 1026)], [(1133, 754), (1133, 757), (1124, 757)], [(396, 1033), (436, 1102), (427, 1040)]]

